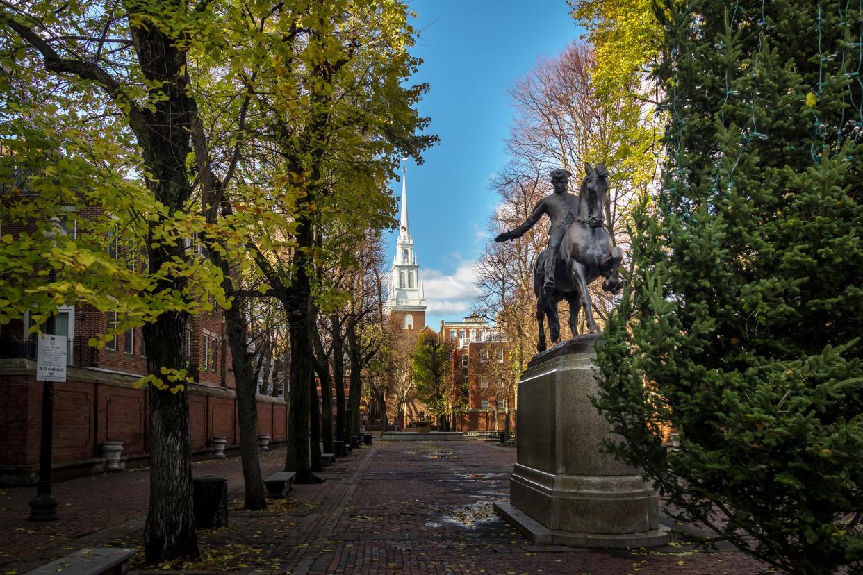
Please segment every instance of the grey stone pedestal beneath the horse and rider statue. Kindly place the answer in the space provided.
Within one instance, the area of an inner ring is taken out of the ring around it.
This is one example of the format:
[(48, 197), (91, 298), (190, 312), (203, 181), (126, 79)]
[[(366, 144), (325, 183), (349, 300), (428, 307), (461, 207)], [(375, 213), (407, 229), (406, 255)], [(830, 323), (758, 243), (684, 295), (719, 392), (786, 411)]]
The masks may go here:
[(596, 340), (582, 336), (538, 354), (522, 374), (518, 459), (510, 503), (499, 512), (538, 543), (665, 545), (650, 484), (600, 451), (610, 430), (590, 403)]

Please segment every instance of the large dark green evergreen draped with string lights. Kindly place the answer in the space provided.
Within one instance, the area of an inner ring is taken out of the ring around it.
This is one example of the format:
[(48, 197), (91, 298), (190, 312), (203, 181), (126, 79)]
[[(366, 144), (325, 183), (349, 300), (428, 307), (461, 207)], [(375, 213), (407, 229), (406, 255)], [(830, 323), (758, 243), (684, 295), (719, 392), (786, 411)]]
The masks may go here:
[(863, 2), (658, 16), (665, 189), (597, 353), (608, 447), (780, 570), (859, 569)]

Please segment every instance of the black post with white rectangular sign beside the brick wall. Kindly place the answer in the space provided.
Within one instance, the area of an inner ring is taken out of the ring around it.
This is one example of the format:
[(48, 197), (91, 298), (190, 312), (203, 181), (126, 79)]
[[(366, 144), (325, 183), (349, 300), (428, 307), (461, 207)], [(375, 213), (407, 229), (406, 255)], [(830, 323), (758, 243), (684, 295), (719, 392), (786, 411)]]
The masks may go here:
[(36, 498), (30, 502), (28, 521), (60, 519), (57, 502), (51, 497), (51, 452), (54, 440), (54, 382), (66, 381), (66, 335), (40, 335), (36, 348), (36, 381), (42, 383), (42, 426), (39, 446), (39, 483)]

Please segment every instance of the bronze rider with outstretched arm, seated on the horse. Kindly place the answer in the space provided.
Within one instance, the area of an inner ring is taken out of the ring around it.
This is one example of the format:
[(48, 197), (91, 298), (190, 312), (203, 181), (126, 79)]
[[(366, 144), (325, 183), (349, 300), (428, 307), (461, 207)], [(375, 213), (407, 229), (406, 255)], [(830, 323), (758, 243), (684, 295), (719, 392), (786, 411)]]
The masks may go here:
[(543, 274), (545, 282), (543, 289), (545, 293), (554, 291), (554, 273), (557, 266), (557, 253), (560, 249), (560, 242), (564, 240), (566, 230), (570, 228), (570, 224), (576, 221), (578, 216), (578, 197), (570, 194), (567, 189), (570, 176), (572, 174), (566, 170), (554, 170), (549, 176), (551, 184), (554, 186), (554, 193), (542, 198), (533, 207), (533, 212), (527, 221), (508, 232), (499, 234), (494, 241), (507, 241), (513, 238), (518, 238), (528, 229), (532, 228), (543, 214), (549, 217), (551, 225), (548, 232), (548, 254), (545, 258), (545, 266)]

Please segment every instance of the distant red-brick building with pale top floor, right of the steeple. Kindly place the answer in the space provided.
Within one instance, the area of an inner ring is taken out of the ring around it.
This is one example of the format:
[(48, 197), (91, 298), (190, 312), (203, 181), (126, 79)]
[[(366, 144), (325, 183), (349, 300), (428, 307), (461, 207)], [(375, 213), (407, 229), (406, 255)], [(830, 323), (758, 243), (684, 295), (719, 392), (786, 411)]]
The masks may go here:
[(452, 377), (460, 384), (466, 406), (457, 418), (456, 429), (502, 430), (508, 408), (514, 430), (515, 394), (509, 380), (507, 342), (476, 314), (461, 322), (440, 322), (440, 338), (452, 349)]

